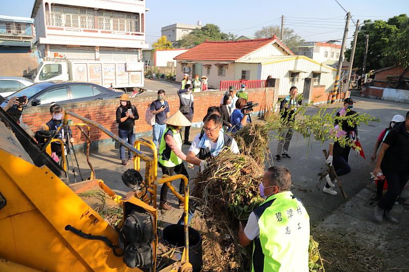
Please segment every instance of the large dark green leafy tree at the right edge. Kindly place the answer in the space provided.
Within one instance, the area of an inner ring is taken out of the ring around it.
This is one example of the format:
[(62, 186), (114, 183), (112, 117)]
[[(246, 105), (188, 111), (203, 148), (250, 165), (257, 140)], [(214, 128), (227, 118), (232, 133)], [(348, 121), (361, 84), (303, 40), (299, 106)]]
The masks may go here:
[[(407, 47), (409, 23), (406, 14), (394, 16), (388, 21), (365, 20), (364, 23), (358, 32), (354, 68), (362, 70), (367, 34), (369, 35), (367, 71), (393, 65), (409, 66)], [(345, 57), (350, 59), (351, 49), (346, 50)]]

